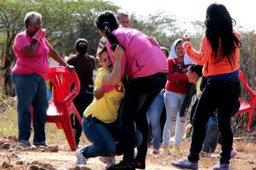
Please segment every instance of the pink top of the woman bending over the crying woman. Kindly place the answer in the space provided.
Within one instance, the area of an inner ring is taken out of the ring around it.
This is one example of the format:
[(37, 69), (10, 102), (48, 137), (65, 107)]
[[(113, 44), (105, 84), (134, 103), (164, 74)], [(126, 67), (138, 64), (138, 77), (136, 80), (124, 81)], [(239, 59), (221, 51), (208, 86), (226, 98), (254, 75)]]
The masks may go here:
[[(168, 72), (168, 64), (165, 54), (160, 47), (151, 43), (148, 37), (138, 30), (131, 28), (118, 28), (112, 32), (118, 42), (125, 49), (122, 56), (122, 76), (128, 74), (130, 78), (151, 76), (158, 72)], [(111, 44), (107, 41), (107, 50), (113, 63)]]

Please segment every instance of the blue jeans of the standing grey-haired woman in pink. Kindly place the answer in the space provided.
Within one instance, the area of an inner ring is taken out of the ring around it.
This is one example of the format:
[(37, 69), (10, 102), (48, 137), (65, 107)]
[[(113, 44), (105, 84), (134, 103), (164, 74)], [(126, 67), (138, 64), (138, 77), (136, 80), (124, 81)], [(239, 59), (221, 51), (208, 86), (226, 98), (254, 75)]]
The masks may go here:
[(12, 83), (15, 85), (18, 105), (18, 140), (28, 141), (31, 129), (30, 105), (33, 106), (33, 144), (39, 145), (46, 142), (44, 125), (48, 100), (46, 94), (46, 81), (37, 74), (12, 73)]

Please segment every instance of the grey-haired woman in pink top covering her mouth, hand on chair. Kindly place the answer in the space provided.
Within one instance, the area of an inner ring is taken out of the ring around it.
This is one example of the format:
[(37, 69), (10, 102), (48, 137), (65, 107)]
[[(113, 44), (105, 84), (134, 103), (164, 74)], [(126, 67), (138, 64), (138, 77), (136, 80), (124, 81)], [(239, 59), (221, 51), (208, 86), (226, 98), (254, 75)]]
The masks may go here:
[(41, 28), (42, 16), (38, 12), (28, 12), (24, 19), (26, 30), (17, 34), (13, 50), (17, 62), (12, 68), (12, 83), (15, 85), (18, 105), (19, 145), (30, 147), (31, 114), (33, 106), (33, 144), (46, 146), (44, 124), (48, 100), (44, 78), (49, 70), (48, 56), (51, 56), (68, 70), (73, 70), (51, 47)]

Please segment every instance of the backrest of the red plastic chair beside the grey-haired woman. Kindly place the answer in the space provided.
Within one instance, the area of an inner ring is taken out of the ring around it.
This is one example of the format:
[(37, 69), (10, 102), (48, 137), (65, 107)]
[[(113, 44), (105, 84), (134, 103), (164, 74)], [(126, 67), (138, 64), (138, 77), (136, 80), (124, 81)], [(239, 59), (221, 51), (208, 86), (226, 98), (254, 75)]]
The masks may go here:
[(65, 67), (51, 67), (46, 80), (50, 80), (53, 84), (53, 101), (55, 103), (70, 102), (80, 91), (77, 74), (75, 71), (68, 71)]

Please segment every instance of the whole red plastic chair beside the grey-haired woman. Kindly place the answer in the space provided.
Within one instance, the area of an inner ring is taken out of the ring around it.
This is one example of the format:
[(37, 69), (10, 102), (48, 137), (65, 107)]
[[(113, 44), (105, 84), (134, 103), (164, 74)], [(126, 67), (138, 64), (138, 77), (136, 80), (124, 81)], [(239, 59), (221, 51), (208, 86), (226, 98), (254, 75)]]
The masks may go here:
[(75, 150), (77, 146), (70, 116), (75, 114), (80, 124), (82, 123), (82, 119), (73, 103), (73, 99), (80, 91), (80, 81), (75, 71), (69, 72), (65, 67), (51, 67), (46, 76), (46, 80), (48, 79), (53, 84), (53, 101), (49, 102), (46, 122), (56, 123), (58, 129), (63, 129), (69, 147), (71, 150)]

